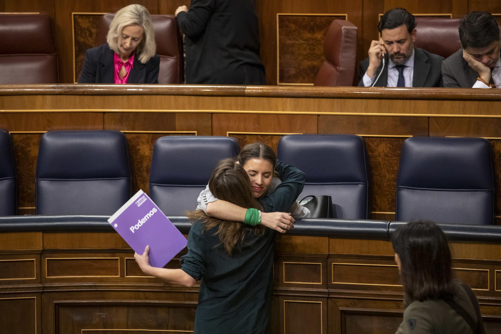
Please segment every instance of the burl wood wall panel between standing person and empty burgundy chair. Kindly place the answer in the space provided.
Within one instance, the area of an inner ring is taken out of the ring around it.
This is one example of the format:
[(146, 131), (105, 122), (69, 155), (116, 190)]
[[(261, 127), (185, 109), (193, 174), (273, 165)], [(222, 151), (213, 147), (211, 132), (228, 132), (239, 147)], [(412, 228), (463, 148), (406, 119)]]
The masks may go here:
[(278, 85), (312, 85), (325, 60), (324, 38), (346, 15), (278, 14)]

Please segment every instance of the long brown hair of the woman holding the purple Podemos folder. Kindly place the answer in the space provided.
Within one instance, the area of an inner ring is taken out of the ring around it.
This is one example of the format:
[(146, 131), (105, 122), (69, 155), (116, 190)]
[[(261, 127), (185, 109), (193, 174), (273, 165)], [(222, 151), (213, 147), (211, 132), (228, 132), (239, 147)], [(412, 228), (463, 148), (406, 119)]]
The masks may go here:
[[(218, 199), (243, 208), (263, 209), (250, 191), (247, 173), (241, 165), (235, 163), (234, 159), (224, 159), (219, 162), (210, 176), (209, 190)], [(188, 212), (188, 217), (204, 224), (202, 231), (217, 227), (216, 234), (219, 235), (219, 240), (229, 255), (235, 247), (241, 245), (246, 234), (252, 231), (256, 235), (263, 235), (266, 229), (262, 225), (250, 226), (209, 217), (202, 210)]]

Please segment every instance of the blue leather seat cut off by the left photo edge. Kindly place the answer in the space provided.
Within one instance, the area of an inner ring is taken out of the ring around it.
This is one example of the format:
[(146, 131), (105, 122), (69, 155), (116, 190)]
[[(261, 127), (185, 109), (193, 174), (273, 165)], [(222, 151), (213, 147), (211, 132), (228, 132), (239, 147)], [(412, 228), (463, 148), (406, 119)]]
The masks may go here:
[(0, 198), (0, 216), (16, 215), (16, 165), (12, 154), (11, 135), (5, 129), (0, 129)]

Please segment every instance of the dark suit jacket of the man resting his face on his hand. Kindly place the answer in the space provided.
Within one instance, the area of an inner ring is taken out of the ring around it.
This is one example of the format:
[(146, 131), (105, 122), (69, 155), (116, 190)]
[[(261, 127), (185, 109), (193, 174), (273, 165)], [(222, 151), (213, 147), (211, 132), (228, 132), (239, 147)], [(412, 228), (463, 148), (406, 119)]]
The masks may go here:
[[(463, 49), (459, 49), (442, 62), (442, 76), (443, 87), (471, 88), (478, 73), (463, 59)], [(492, 77), (490, 83), (494, 84)]]

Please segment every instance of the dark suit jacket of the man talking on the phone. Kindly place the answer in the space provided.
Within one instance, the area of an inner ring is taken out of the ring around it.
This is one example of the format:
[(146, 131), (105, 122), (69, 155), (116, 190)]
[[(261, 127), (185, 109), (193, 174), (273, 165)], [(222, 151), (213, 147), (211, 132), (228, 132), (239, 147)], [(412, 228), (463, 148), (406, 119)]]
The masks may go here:
[[(412, 80), (412, 87), (443, 87), (441, 72), (442, 61), (443, 57), (441, 56), (429, 53), (423, 49), (414, 48), (414, 76)], [(386, 55), (385, 63), (386, 65), (383, 73), (381, 73), (381, 76), (374, 86), (386, 87), (386, 82), (388, 80), (388, 55)], [(381, 62), (381, 65), (379, 65), (376, 71), (376, 78), (379, 75), (382, 66), (383, 62)], [(358, 72), (360, 77), (358, 86), (360, 87), (364, 86), (362, 77), (368, 67), (369, 58), (366, 58), (360, 63)]]

